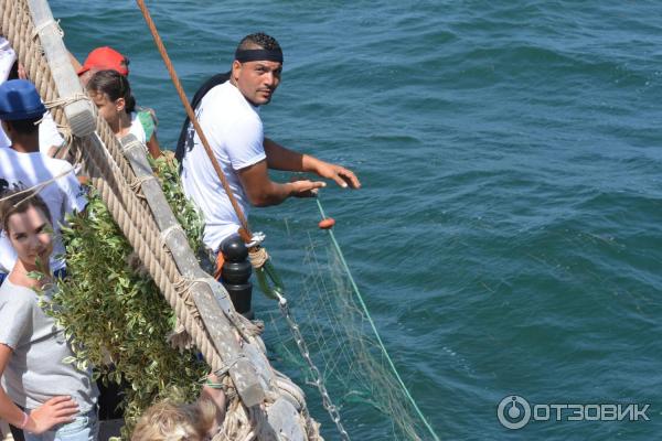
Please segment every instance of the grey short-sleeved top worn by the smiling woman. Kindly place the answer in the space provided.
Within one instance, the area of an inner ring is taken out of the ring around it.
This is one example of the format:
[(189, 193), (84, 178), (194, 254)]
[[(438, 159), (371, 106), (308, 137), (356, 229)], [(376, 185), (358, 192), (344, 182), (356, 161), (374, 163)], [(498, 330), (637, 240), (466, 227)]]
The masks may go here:
[[(43, 299), (50, 300), (49, 291)], [(0, 343), (13, 349), (2, 375), (2, 387), (17, 405), (26, 409), (68, 395), (78, 402), (81, 412), (86, 412), (98, 396), (92, 372), (63, 363), (73, 356), (64, 331), (38, 302), (33, 290), (9, 279), (0, 286)]]

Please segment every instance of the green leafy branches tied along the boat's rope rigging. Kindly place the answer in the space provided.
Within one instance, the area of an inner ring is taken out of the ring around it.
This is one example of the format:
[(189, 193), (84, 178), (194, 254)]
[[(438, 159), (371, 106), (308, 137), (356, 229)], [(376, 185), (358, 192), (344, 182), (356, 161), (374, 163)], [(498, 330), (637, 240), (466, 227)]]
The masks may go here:
[[(152, 166), (192, 249), (199, 251), (203, 222), (181, 191), (177, 163), (160, 158)], [(179, 353), (167, 342), (174, 312), (136, 265), (134, 249), (94, 189), (85, 213), (67, 220), (62, 235), (68, 277), (57, 282), (47, 312), (74, 347), (74, 357), (66, 362), (78, 368), (92, 365), (95, 379), (105, 384), (128, 385), (120, 405), (127, 439), (156, 400), (195, 399), (206, 366), (195, 351)]]

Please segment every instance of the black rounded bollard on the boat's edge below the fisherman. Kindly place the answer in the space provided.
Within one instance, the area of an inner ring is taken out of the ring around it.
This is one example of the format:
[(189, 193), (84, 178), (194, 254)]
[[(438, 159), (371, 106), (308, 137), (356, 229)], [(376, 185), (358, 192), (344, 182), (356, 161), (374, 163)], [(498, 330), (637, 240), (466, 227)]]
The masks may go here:
[(221, 283), (229, 293), (235, 310), (246, 319), (253, 319), (253, 283), (249, 280), (253, 267), (248, 260), (248, 248), (239, 235), (232, 235), (221, 244), (221, 252), (225, 259), (221, 270)]

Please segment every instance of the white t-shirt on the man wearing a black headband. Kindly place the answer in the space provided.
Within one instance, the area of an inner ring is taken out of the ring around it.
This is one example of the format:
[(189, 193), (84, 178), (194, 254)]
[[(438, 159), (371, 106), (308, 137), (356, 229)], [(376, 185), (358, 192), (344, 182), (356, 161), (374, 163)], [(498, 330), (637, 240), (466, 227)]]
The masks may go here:
[[(247, 216), (248, 200), (237, 171), (266, 159), (258, 108), (226, 82), (204, 96), (195, 115), (235, 198)], [(186, 150), (191, 144), (193, 149), (182, 161), (182, 187), (204, 216), (204, 244), (216, 251), (221, 241), (236, 233), (241, 224), (192, 125), (189, 127)]]

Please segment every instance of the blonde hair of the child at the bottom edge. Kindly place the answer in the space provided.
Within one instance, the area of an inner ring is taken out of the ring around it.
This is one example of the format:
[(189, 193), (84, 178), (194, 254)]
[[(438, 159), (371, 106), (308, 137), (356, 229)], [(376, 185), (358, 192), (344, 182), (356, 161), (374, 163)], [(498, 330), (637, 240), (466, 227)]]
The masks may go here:
[(206, 397), (190, 405), (161, 401), (140, 417), (131, 441), (203, 441), (215, 418), (216, 406)]

